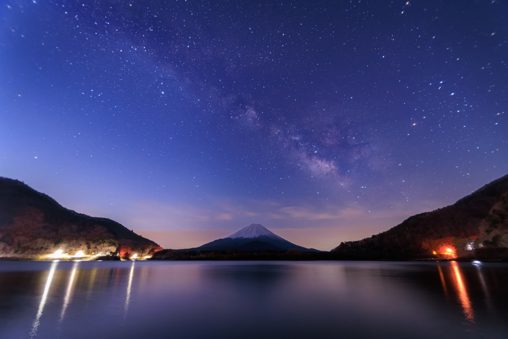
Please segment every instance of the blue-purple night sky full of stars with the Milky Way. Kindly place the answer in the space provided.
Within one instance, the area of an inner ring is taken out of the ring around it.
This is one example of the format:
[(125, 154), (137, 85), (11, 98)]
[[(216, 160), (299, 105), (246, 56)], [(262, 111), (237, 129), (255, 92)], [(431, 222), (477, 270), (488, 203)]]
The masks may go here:
[(165, 248), (331, 250), (508, 173), (503, 1), (0, 4), (0, 176)]

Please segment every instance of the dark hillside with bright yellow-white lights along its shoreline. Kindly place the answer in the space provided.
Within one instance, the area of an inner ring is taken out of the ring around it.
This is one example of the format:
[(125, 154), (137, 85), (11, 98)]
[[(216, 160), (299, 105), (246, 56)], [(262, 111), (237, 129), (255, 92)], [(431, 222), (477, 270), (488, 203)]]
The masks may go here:
[(69, 210), (23, 182), (0, 177), (0, 256), (37, 257), (57, 250), (144, 256), (162, 248), (113, 220)]

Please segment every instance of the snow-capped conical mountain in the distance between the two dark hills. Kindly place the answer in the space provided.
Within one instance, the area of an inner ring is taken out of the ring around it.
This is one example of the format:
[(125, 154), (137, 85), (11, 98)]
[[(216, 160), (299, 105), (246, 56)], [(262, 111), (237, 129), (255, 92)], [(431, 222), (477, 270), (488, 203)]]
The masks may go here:
[(250, 224), (222, 239), (213, 240), (199, 247), (189, 249), (195, 251), (227, 251), (242, 250), (246, 252), (300, 250), (321, 252), (307, 249), (285, 240), (260, 224)]

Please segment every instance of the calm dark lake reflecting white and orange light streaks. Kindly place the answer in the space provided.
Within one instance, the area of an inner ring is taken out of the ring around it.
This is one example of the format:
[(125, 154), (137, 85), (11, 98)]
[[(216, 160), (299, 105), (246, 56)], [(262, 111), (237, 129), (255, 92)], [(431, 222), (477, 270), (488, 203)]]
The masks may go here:
[(508, 265), (0, 262), (2, 338), (508, 338)]

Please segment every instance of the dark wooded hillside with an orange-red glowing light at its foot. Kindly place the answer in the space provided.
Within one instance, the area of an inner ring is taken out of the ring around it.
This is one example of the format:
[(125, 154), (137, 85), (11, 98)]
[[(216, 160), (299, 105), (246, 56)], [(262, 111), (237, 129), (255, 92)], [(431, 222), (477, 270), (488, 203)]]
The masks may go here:
[(413, 215), (390, 230), (342, 242), (337, 259), (508, 258), (508, 175), (455, 204)]

